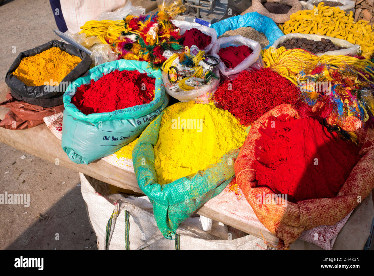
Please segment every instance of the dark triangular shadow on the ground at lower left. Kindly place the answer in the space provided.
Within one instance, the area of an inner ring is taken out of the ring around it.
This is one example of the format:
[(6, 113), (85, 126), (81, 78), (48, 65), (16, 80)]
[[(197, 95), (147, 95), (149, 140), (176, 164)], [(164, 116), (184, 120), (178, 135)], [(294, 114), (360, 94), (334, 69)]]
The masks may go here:
[(76, 186), (45, 213), (35, 217), (35, 222), (6, 249), (96, 250), (96, 235), (85, 206), (80, 186)]

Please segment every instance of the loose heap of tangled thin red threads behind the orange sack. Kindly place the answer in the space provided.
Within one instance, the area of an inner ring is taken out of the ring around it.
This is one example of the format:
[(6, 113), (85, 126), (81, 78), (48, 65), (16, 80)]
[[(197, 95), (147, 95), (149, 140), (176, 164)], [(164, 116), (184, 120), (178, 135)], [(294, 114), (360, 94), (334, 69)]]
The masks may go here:
[(293, 103), (300, 90), (269, 68), (243, 71), (234, 81), (226, 79), (215, 91), (217, 106), (231, 112), (242, 125), (252, 124), (282, 103)]

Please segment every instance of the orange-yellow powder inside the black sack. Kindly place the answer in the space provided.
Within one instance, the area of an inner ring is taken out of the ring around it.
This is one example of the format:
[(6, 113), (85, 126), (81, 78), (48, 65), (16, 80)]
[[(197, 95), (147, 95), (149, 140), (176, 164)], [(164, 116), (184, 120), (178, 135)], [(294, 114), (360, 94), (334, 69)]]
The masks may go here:
[(45, 85), (45, 82), (56, 85), (53, 82), (61, 82), (81, 61), (79, 57), (52, 47), (40, 54), (22, 58), (13, 74), (29, 86)]

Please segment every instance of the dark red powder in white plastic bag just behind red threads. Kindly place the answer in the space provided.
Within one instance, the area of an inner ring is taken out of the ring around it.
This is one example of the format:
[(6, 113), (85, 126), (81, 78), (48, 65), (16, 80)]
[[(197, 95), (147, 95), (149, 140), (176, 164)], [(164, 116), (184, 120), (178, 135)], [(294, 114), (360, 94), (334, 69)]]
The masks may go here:
[(227, 68), (234, 68), (252, 52), (252, 48), (247, 45), (240, 45), (221, 48), (218, 55)]

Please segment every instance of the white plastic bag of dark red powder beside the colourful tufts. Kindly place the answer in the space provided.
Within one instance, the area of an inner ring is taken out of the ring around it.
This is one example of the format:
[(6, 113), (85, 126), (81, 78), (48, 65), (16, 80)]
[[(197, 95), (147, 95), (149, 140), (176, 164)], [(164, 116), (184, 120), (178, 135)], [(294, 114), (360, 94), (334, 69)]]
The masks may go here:
[(173, 24), (180, 29), (180, 34), (184, 38), (182, 44), (188, 48), (196, 45), (208, 54), (217, 40), (217, 33), (213, 28), (180, 20), (173, 20)]

